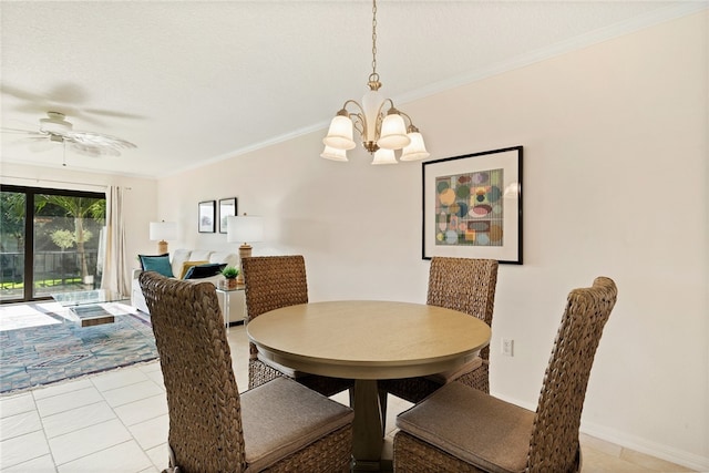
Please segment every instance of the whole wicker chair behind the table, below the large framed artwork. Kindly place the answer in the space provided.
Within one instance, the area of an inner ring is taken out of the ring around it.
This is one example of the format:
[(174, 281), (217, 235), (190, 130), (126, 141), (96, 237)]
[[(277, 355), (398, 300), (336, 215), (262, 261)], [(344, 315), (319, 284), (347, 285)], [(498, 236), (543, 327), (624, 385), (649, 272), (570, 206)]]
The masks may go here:
[[(497, 285), (497, 261), (494, 259), (431, 258), (427, 304), (460, 310), (483, 320), (492, 327), (492, 313)], [(484, 347), (462, 368), (429, 377), (382, 380), (383, 393), (390, 393), (409, 402), (419, 402), (441, 385), (459, 381), (490, 393), (490, 348)]]

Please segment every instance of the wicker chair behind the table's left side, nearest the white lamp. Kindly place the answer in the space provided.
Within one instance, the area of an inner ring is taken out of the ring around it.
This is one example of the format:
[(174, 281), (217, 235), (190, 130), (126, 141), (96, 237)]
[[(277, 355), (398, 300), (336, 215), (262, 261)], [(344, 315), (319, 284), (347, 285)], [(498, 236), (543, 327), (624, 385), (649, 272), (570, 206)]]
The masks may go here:
[[(301, 255), (254, 256), (244, 258), (242, 265), (247, 326), (249, 321), (269, 310), (308, 304), (306, 261)], [(354, 381), (350, 379), (309, 374), (261, 359), (256, 345), (249, 342), (249, 389), (284, 376), (328, 397), (354, 385)]]

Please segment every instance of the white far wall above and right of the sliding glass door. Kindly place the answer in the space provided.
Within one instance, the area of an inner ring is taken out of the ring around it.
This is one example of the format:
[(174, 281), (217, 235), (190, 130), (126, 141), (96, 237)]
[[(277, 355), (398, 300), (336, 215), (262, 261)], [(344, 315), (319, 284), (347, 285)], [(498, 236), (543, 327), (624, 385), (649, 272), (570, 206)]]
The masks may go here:
[(148, 240), (150, 222), (157, 218), (157, 185), (155, 179), (104, 175), (74, 171), (71, 167), (24, 166), (2, 163), (0, 183), (28, 187), (61, 188), (105, 193), (107, 186), (124, 187), (126, 208), (126, 281), (130, 285), (130, 269), (138, 267), (135, 255), (155, 253), (156, 243)]

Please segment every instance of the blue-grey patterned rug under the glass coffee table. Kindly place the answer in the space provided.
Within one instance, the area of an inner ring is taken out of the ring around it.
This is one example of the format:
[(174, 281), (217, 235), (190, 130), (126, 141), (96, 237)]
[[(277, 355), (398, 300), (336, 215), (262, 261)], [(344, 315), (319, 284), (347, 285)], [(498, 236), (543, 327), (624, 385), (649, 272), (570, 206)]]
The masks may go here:
[(157, 359), (150, 316), (105, 307), (115, 321), (81, 327), (56, 304), (0, 309), (0, 393)]

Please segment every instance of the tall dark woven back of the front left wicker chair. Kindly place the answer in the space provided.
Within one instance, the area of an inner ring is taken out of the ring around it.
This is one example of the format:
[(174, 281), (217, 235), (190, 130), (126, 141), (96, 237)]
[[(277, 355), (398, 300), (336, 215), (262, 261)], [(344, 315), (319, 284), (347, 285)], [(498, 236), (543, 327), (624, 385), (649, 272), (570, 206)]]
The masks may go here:
[(183, 473), (246, 467), (239, 392), (215, 287), (142, 273), (167, 392), (171, 466)]

